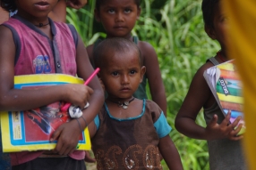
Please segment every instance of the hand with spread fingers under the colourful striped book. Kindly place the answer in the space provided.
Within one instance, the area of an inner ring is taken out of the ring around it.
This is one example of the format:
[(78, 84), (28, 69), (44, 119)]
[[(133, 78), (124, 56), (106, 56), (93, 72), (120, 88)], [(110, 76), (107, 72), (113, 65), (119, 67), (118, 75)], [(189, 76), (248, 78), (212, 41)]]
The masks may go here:
[[(229, 118), (231, 116), (231, 111), (228, 110), (228, 113), (225, 119), (218, 125), (217, 120), (218, 116), (214, 115), (214, 117), (209, 122), (209, 125), (206, 127), (206, 136), (207, 140), (218, 140), (228, 138), (229, 140), (240, 140), (243, 138), (243, 135), (237, 136), (239, 131), (242, 128), (242, 124), (238, 125), (241, 117), (237, 117), (232, 124), (229, 124)], [(238, 126), (237, 126), (238, 125)], [(235, 128), (237, 126), (237, 128)]]

